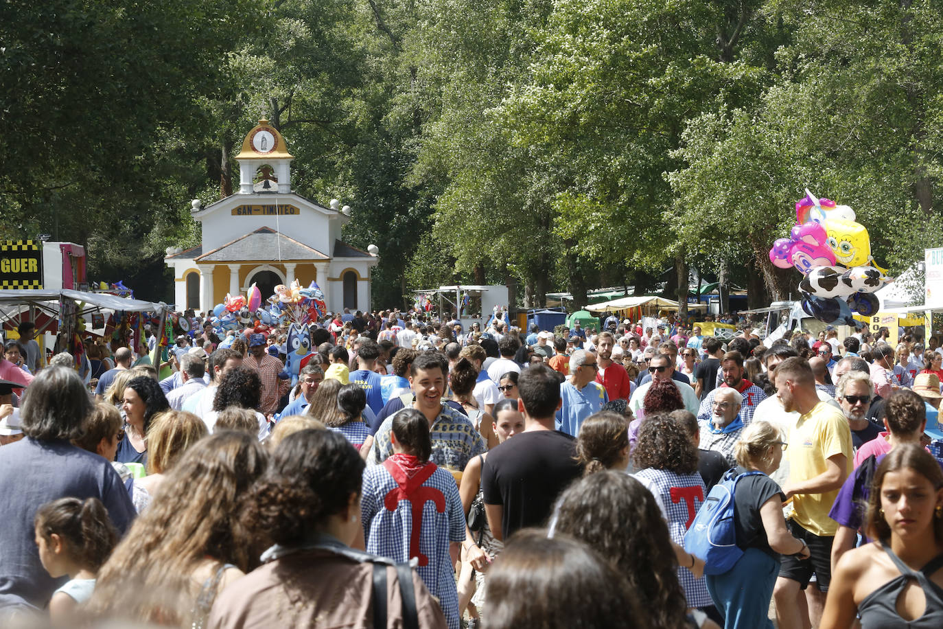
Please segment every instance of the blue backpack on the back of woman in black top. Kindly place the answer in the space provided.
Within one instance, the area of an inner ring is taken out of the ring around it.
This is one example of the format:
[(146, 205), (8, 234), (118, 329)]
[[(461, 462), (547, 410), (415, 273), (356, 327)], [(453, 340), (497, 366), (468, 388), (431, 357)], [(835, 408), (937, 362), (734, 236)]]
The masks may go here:
[(736, 545), (734, 492), (741, 478), (761, 473), (737, 474), (736, 470), (728, 470), (698, 509), (685, 533), (685, 550), (703, 559), (704, 574), (723, 574), (743, 555)]

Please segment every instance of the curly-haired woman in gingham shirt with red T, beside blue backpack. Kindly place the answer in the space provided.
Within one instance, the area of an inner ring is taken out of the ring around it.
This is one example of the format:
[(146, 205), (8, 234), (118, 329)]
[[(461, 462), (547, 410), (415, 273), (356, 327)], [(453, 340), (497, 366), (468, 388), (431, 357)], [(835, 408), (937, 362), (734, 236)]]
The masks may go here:
[[(662, 516), (668, 521), (671, 540), (683, 544), (687, 527), (694, 521), (707, 493), (698, 473), (697, 445), (687, 429), (669, 415), (650, 415), (638, 430), (632, 459), (640, 471), (636, 472), (636, 478), (652, 492)], [(685, 588), (688, 606), (702, 609), (713, 620), (722, 622), (703, 577), (695, 578), (679, 568), (678, 580)]]

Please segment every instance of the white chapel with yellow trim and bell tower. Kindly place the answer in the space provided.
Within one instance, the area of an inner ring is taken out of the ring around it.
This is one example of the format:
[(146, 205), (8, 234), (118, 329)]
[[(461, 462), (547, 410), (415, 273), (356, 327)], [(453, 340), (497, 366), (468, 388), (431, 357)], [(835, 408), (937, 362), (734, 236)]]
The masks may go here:
[(192, 203), (202, 244), (164, 258), (174, 269), (175, 308), (209, 311), (227, 292), (244, 295), (253, 283), (264, 304), (276, 285), (297, 279), (302, 287), (317, 282), (332, 312), (369, 309), (380, 260), (374, 245), (361, 251), (340, 240), (350, 208), (337, 200), (322, 207), (291, 191), (293, 157), (267, 120), (245, 137), (236, 159), (239, 192), (207, 207)]

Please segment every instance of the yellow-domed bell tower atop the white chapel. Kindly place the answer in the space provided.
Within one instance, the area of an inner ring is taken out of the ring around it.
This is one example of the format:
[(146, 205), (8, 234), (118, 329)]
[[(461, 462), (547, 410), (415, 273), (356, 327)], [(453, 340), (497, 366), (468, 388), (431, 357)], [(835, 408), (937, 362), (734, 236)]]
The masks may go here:
[[(290, 163), (294, 157), (282, 134), (266, 119), (259, 120), (245, 137), (236, 159), (239, 160), (240, 194), (291, 191)], [(260, 176), (257, 183), (256, 175)]]

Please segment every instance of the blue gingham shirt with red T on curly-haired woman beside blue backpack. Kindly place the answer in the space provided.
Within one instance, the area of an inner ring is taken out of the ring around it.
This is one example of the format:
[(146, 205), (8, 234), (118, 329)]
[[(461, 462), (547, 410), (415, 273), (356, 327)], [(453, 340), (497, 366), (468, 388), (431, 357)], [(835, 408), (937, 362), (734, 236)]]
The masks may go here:
[[(696, 514), (697, 510), (703, 505), (704, 497), (707, 495), (707, 488), (704, 487), (701, 474), (698, 472), (678, 474), (669, 472), (668, 470), (646, 468), (641, 472), (636, 472), (635, 476), (650, 481), (645, 483), (645, 485), (653, 489), (655, 499), (657, 499), (661, 503), (662, 508), (665, 509), (665, 513), (668, 516), (668, 530), (671, 534), (671, 541), (684, 546), (687, 522), (693, 520), (694, 515), (688, 510), (687, 501), (681, 499), (677, 491), (674, 492), (677, 502), (672, 500), (671, 488), (701, 488), (701, 498), (693, 501), (693, 513)], [(695, 579), (694, 575), (691, 574), (687, 568), (679, 567), (677, 571), (678, 581), (681, 583), (681, 587), (685, 588), (687, 606), (705, 607), (714, 604), (710, 598), (710, 594), (707, 593), (707, 586), (704, 584), (703, 576), (700, 579)]]

